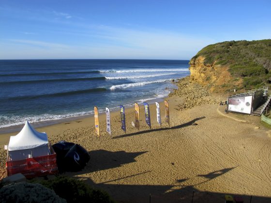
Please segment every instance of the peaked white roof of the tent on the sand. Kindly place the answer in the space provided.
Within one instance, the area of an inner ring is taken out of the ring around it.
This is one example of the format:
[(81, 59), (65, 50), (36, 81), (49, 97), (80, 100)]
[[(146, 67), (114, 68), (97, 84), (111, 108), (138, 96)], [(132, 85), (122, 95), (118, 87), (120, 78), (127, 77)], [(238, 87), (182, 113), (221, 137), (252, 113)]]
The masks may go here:
[(38, 132), (26, 121), (23, 129), (15, 136), (10, 136), (8, 150), (31, 149), (48, 145), (48, 138), (45, 132)]

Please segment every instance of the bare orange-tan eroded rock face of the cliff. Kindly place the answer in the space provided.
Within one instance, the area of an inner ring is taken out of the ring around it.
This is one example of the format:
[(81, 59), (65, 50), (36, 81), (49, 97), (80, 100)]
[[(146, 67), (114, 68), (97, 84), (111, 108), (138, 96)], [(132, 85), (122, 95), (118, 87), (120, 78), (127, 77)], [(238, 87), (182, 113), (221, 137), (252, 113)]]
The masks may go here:
[(207, 87), (211, 92), (224, 92), (242, 83), (241, 80), (233, 80), (226, 66), (204, 65), (204, 57), (191, 59), (189, 64), (191, 79)]

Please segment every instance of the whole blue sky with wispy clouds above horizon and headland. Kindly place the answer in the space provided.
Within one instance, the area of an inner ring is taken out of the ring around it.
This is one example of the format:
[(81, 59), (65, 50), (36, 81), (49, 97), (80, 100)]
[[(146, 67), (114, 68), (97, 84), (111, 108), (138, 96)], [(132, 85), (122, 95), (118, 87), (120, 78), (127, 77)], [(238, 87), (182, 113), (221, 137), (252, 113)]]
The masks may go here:
[(0, 59), (190, 59), (260, 39), (270, 0), (0, 0)]

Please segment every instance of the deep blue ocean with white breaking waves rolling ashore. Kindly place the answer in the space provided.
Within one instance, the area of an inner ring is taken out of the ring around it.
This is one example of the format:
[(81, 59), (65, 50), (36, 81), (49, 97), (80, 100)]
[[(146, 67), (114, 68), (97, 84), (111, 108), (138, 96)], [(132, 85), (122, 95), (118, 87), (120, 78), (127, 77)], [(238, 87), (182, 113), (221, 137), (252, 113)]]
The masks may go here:
[(165, 97), (188, 60), (0, 60), (0, 128)]

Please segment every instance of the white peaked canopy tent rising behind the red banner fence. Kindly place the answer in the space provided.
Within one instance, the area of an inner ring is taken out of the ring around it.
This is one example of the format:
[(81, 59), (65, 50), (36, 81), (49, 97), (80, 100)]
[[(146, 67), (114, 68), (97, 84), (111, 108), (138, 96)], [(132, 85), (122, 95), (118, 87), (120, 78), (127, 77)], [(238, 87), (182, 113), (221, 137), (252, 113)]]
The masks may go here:
[(23, 129), (17, 135), (10, 137), (8, 154), (10, 160), (22, 160), (51, 154), (47, 134), (36, 131), (26, 121)]

